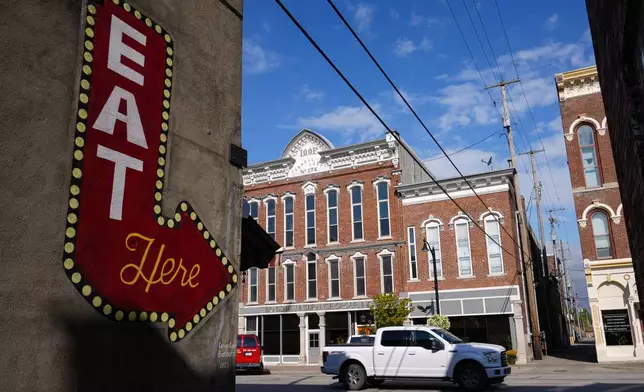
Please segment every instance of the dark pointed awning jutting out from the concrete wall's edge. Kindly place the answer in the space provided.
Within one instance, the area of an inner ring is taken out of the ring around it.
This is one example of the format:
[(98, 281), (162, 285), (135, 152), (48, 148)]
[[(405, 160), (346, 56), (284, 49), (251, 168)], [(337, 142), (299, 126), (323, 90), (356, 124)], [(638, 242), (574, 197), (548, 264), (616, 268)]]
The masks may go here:
[[(244, 202), (244, 204), (247, 204)], [(240, 270), (267, 268), (281, 249), (280, 244), (253, 219), (244, 213), (242, 217), (242, 252)]]

